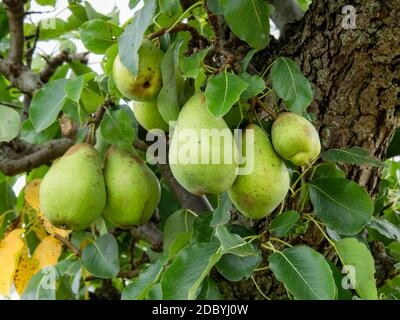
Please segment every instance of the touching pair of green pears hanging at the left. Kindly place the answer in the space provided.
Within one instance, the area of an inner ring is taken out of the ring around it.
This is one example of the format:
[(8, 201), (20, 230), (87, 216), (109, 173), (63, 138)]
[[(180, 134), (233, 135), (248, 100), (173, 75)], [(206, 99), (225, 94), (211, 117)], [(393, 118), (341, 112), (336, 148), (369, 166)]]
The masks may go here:
[(89, 144), (71, 147), (40, 185), (40, 207), (55, 226), (88, 228), (103, 215), (120, 228), (147, 222), (160, 201), (157, 177), (137, 152), (111, 146), (104, 165)]

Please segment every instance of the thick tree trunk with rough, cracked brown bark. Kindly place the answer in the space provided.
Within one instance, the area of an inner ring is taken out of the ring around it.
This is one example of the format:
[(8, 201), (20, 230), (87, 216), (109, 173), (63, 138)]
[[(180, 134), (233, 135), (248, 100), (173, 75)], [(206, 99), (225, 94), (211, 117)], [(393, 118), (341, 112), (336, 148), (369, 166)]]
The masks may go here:
[[(342, 26), (346, 5), (356, 9), (356, 29)], [(262, 71), (278, 56), (293, 58), (313, 84), (314, 101), (308, 111), (317, 116), (323, 148), (359, 146), (384, 159), (399, 124), (400, 0), (314, 0), (304, 19), (291, 25), (286, 35), (282, 41), (272, 40), (255, 57), (254, 67)], [(372, 196), (376, 194), (379, 169), (344, 169)], [(319, 250), (324, 245), (313, 228), (301, 241)], [(263, 298), (251, 279), (217, 279), (226, 298)], [(270, 271), (256, 273), (255, 281), (270, 298), (286, 297)]]

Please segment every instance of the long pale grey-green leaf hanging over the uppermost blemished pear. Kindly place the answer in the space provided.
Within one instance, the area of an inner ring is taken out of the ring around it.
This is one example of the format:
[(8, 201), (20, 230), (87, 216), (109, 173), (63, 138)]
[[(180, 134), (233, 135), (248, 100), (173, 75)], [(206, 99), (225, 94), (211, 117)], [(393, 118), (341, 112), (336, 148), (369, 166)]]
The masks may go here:
[(144, 33), (153, 22), (155, 9), (155, 0), (146, 1), (143, 8), (135, 14), (132, 22), (118, 39), (121, 62), (135, 76), (139, 70), (138, 50), (142, 45)]

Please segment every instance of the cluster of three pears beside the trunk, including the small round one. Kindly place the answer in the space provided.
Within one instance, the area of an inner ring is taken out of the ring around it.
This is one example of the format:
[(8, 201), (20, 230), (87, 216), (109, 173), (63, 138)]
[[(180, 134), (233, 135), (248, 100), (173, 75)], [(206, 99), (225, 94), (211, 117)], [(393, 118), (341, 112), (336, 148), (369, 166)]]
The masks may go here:
[[(192, 129), (199, 139), (188, 146), (183, 133)], [(285, 198), (289, 190), (289, 172), (282, 159), (304, 166), (315, 160), (320, 153), (320, 140), (314, 126), (295, 113), (281, 113), (272, 126), (272, 142), (261, 127), (250, 124), (242, 131), (242, 156), (245, 162), (225, 163), (225, 155), (237, 155), (239, 150), (233, 137), (232, 143), (203, 137), (202, 129), (228, 130), (224, 119), (215, 117), (207, 107), (203, 93), (194, 95), (183, 106), (173, 133), (170, 160), (181, 148), (195, 149), (207, 145), (209, 155), (220, 158), (219, 163), (202, 164), (180, 162), (174, 158), (171, 170), (177, 181), (197, 195), (218, 194), (224, 191), (233, 204), (245, 216), (261, 219), (270, 214)], [(253, 131), (251, 141), (247, 131)], [(253, 143), (251, 154), (246, 154), (246, 144)], [(228, 150), (227, 150), (228, 149)], [(182, 151), (182, 150), (181, 150)], [(253, 163), (249, 174), (237, 175), (239, 167)]]

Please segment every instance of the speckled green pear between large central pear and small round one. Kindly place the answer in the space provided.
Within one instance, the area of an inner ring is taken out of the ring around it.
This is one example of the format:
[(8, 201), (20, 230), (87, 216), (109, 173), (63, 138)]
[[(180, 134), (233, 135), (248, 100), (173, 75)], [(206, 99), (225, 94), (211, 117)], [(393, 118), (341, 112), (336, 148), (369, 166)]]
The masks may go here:
[[(247, 136), (248, 130), (254, 130), (254, 143)], [(245, 160), (243, 166), (251, 168), (250, 164), (253, 163), (253, 169), (238, 176), (228, 190), (228, 195), (243, 215), (261, 219), (285, 199), (289, 191), (289, 172), (283, 160), (275, 153), (264, 130), (256, 125), (248, 125), (243, 131), (242, 149)]]

